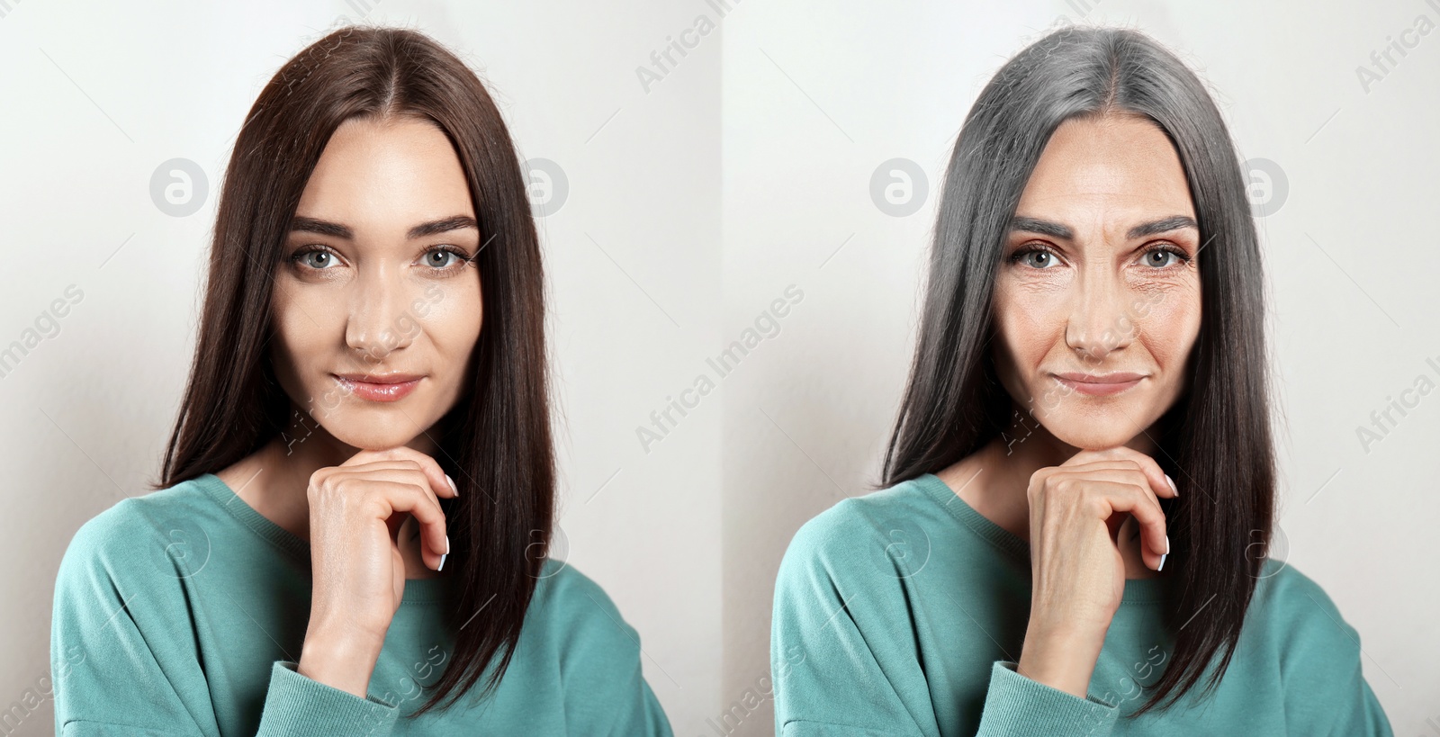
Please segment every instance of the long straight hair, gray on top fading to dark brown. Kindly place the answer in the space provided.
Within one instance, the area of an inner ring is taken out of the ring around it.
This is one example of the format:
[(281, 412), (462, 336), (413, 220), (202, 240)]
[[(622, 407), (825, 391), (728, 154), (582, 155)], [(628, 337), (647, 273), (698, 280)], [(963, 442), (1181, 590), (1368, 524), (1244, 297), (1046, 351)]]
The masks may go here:
[(1155, 461), (1181, 491), (1161, 499), (1175, 651), (1138, 715), (1166, 697), (1174, 704), (1224, 651), (1205, 691), (1220, 682), (1274, 515), (1261, 261), (1240, 157), (1205, 85), (1149, 36), (1056, 30), (1007, 62), (975, 101), (945, 174), (919, 340), (883, 475), (894, 485), (937, 472), (1011, 426), (1014, 403), (986, 351), (1005, 232), (1056, 128), (1112, 114), (1142, 115), (1169, 137), (1207, 249), (1191, 376), (1155, 438)]

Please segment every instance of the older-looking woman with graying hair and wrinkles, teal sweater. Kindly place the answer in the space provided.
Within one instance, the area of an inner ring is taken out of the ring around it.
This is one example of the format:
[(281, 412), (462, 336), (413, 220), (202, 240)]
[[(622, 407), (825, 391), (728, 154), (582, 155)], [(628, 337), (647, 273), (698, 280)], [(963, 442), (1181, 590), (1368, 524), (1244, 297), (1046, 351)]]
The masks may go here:
[(1260, 265), (1174, 55), (1068, 27), (1009, 60), (946, 173), (886, 488), (780, 564), (776, 730), (1391, 734), (1355, 629), (1267, 559)]

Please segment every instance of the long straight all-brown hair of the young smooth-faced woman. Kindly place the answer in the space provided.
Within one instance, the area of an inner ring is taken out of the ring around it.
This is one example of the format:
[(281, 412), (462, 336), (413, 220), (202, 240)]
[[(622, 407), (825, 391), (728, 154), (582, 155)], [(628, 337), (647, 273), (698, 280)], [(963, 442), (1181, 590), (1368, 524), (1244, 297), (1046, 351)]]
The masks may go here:
[[(416, 714), (510, 665), (554, 517), (540, 245), (504, 119), (480, 78), (428, 36), (343, 27), (288, 60), (235, 140), (220, 189), (209, 284), (190, 380), (166, 449), (167, 488), (253, 453), (289, 423), (265, 354), (271, 285), (301, 193), (331, 134), (351, 118), (413, 117), (439, 127), (469, 186), (482, 248), (484, 330), (474, 371), (439, 423), (436, 462), (459, 498), (441, 499), (452, 538), (449, 666)], [(537, 535), (540, 538), (537, 547)], [(462, 626), (462, 612), (485, 616)]]

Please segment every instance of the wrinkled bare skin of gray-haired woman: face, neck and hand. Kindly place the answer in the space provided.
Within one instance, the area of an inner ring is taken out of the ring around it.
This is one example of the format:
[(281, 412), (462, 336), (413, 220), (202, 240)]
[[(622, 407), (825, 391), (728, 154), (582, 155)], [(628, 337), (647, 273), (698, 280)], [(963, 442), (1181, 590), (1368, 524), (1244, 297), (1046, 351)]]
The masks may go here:
[[(1175, 148), (1133, 115), (1061, 124), (1015, 217), (1031, 220), (1007, 238), (992, 357), (1018, 419), (937, 476), (1030, 543), (1018, 671), (1084, 698), (1125, 580), (1164, 576), (1159, 498), (1178, 494), (1151, 428), (1185, 390), (1202, 243)], [(1143, 379), (1092, 396), (1054, 376), (1071, 371)]]

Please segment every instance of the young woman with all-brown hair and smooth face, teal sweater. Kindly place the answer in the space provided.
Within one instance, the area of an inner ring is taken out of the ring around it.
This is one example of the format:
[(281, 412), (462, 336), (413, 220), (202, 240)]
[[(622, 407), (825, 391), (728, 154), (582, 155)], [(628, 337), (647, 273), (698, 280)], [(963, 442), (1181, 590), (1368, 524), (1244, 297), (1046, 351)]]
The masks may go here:
[(285, 63), (235, 143), (163, 489), (60, 564), (58, 728), (670, 734), (635, 630), (547, 557), (543, 325), (480, 79), (399, 29)]

